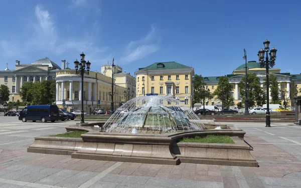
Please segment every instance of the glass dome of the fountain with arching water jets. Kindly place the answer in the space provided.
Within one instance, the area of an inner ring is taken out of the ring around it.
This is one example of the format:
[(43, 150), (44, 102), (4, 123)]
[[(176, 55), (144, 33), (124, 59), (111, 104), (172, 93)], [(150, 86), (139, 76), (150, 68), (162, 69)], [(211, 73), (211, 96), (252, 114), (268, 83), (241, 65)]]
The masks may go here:
[(136, 97), (124, 103), (103, 125), (103, 132), (164, 134), (203, 130), (199, 117), (172, 97)]

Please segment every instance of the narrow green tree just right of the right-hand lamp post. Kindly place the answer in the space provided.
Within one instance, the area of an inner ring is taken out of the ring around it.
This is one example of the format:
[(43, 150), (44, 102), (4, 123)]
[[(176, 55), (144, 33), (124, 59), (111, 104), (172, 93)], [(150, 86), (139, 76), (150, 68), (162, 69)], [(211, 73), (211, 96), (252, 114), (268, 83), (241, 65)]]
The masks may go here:
[[(271, 102), (271, 104), (281, 104), (281, 99), (279, 97), (279, 93), (280, 93), (280, 89), (278, 86), (278, 81), (277, 81), (277, 77), (273, 74), (270, 74), (268, 76), (269, 79), (269, 88), (270, 88), (270, 96), (271, 98), (269, 99)], [(264, 79), (265, 81), (263, 82), (263, 85), (266, 86), (266, 79)]]

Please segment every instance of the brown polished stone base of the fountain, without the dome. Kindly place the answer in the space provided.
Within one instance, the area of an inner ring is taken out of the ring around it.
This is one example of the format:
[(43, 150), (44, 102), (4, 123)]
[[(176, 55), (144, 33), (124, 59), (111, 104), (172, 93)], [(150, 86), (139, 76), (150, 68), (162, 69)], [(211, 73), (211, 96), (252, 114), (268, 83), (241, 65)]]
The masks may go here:
[[(215, 125), (208, 125), (214, 128)], [(244, 131), (235, 126), (224, 129), (172, 134), (119, 134), (98, 132), (95, 127), (66, 127), (68, 131), (88, 130), (81, 138), (36, 137), (28, 152), (71, 155), (72, 158), (177, 165), (180, 162), (258, 166)], [(226, 134), (234, 144), (179, 142), (183, 137)]]

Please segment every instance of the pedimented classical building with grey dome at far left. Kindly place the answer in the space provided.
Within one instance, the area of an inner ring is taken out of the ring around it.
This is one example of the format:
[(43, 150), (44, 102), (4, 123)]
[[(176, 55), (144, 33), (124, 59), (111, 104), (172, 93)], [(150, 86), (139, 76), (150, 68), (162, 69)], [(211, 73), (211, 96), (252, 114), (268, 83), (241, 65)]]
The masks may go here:
[(20, 64), (16, 60), (15, 69), (7, 68), (0, 71), (0, 85), (5, 84), (10, 89), (10, 101), (22, 101), (19, 91), (25, 82), (41, 82), (52, 80), (56, 77), (56, 71), (61, 68), (48, 58), (40, 59), (32, 64)]

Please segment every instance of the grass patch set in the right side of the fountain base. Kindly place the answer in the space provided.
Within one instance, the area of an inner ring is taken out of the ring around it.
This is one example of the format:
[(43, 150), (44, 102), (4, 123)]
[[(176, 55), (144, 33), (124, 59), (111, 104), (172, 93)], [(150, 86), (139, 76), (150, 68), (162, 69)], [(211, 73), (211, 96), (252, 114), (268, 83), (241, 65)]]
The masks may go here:
[(213, 135), (195, 136), (194, 138), (185, 137), (181, 142), (203, 142), (203, 143), (234, 143), (228, 135)]

